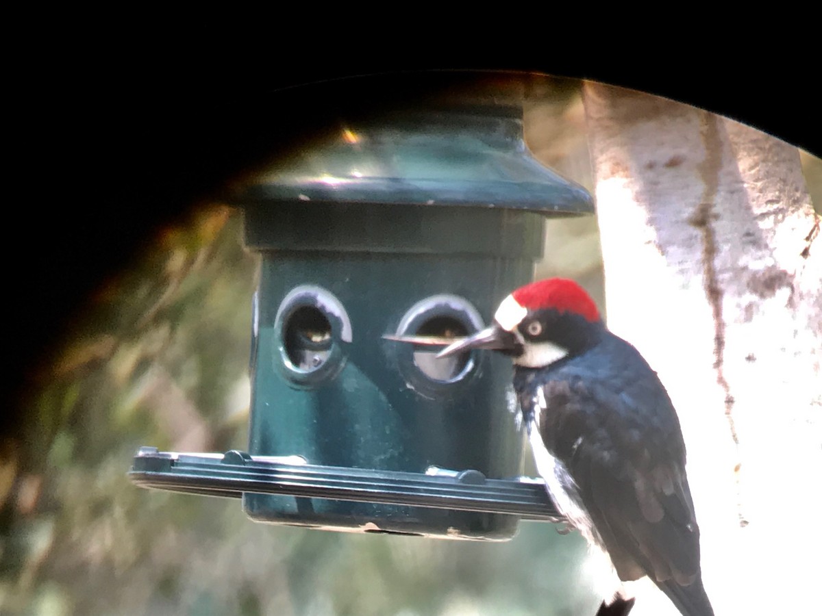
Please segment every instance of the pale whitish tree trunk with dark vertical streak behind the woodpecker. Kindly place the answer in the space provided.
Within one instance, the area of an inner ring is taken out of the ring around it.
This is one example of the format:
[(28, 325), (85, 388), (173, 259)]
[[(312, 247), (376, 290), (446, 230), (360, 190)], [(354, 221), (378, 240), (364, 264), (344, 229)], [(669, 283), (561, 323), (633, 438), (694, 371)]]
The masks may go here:
[[(815, 613), (822, 243), (799, 153), (649, 94), (584, 103), (608, 326), (679, 412), (716, 614)], [(632, 614), (677, 614), (650, 587)]]

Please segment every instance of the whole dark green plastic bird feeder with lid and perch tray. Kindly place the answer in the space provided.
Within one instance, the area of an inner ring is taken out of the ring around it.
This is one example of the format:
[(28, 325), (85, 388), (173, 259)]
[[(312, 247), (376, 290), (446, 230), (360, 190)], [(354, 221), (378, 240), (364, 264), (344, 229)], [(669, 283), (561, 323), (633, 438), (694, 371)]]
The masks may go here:
[(337, 531), (505, 540), (557, 521), (521, 478), (510, 362), (436, 357), (529, 282), (545, 218), (593, 212), (525, 147), (513, 80), (405, 85), (426, 93), (413, 110), (341, 126), (235, 195), (262, 257), (248, 452), (142, 448), (136, 484)]

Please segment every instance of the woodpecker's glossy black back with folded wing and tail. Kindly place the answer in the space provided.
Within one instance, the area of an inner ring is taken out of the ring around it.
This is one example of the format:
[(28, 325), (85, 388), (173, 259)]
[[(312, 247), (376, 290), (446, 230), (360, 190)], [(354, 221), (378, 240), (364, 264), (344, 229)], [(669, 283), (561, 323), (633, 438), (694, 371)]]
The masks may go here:
[(619, 366), (606, 354), (549, 371), (540, 434), (621, 580), (648, 575), (683, 614), (713, 614), (679, 421), (657, 375), (624, 344)]

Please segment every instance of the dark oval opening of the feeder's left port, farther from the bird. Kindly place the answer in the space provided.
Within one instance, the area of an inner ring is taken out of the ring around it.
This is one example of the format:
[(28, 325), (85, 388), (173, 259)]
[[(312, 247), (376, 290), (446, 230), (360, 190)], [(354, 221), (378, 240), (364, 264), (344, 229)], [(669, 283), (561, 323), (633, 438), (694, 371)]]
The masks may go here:
[(331, 324), (316, 306), (300, 306), (283, 328), (285, 353), (298, 370), (316, 370), (331, 352)]

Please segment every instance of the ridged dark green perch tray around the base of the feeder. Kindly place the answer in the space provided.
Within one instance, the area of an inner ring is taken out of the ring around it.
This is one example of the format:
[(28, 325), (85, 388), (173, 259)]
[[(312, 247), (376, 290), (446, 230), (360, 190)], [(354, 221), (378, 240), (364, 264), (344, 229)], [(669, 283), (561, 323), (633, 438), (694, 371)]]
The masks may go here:
[(160, 452), (141, 447), (129, 477), (143, 488), (238, 499), (243, 492), (368, 503), (509, 513), (565, 522), (543, 480), (487, 479), (474, 470), (431, 467), (423, 473), (307, 464), (299, 456)]

